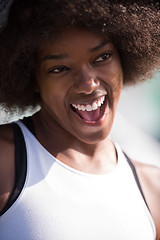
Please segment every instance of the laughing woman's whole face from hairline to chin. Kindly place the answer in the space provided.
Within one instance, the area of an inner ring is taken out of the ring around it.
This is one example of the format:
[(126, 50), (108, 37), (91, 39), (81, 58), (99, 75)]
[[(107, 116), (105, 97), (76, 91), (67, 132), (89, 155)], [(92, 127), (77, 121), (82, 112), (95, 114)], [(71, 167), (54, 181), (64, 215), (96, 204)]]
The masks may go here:
[(106, 138), (123, 82), (119, 55), (108, 39), (82, 29), (63, 31), (41, 47), (36, 79), (49, 121), (86, 143)]

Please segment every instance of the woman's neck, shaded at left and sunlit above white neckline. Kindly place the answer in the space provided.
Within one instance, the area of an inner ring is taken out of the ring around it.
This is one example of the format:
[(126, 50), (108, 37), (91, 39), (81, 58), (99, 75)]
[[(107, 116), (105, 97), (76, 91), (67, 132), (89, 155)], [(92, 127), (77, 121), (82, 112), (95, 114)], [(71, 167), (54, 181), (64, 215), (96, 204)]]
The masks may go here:
[(33, 116), (38, 141), (53, 156), (77, 170), (104, 174), (116, 165), (116, 151), (110, 139), (87, 144), (63, 129), (42, 110)]

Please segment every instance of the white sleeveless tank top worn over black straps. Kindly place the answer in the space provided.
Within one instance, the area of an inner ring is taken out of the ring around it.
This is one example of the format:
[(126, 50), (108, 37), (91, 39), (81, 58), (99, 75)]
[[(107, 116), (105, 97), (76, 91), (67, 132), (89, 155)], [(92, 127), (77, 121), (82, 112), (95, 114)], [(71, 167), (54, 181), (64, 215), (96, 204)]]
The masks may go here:
[(116, 169), (77, 171), (52, 156), (23, 125), (27, 176), (0, 217), (1, 240), (155, 240), (155, 226), (117, 144)]

